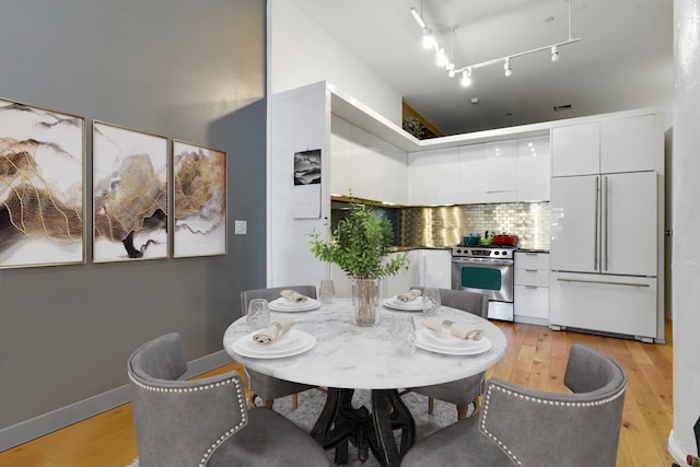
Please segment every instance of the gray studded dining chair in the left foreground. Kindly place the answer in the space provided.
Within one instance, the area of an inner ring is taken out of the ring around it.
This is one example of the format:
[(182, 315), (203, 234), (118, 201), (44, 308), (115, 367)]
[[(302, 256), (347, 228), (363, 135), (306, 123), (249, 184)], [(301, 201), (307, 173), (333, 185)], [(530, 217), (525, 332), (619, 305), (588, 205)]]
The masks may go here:
[(129, 358), (140, 467), (330, 465), (324, 448), (284, 417), (248, 411), (237, 372), (183, 381), (186, 371), (177, 332)]

